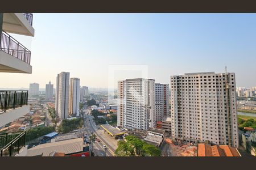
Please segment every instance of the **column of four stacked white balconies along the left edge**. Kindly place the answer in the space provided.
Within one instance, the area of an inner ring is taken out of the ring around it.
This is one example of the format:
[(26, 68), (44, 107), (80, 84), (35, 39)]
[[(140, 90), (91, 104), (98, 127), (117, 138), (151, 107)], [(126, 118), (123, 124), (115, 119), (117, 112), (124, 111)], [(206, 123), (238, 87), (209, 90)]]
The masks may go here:
[[(9, 33), (34, 37), (31, 13), (0, 13), (0, 72), (32, 73), (30, 65), (31, 51), (28, 50), (18, 36), (14, 39)], [(11, 78), (11, 75), (10, 75)], [(7, 81), (1, 80), (1, 82)], [(17, 84), (13, 84), (16, 86)], [(30, 112), (27, 90), (0, 91), (0, 127), (13, 122)], [(7, 129), (7, 128), (6, 128)], [(3, 130), (3, 129), (1, 129)], [(8, 131), (11, 129), (9, 128)], [(25, 156), (25, 131), (14, 133), (1, 131), (0, 156)], [(5, 140), (5, 137), (7, 141)]]

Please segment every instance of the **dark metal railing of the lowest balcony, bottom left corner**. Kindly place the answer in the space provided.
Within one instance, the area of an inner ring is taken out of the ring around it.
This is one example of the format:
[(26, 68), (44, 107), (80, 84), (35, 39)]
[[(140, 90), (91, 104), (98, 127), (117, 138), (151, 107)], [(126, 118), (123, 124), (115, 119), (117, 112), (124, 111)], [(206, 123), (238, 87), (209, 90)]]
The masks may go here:
[[(0, 156), (15, 156), (16, 154), (19, 154), (20, 149), (25, 146), (26, 131), (2, 133), (0, 134), (0, 140), (0, 145), (4, 145), (1, 147)], [(8, 141), (10, 142), (7, 143)]]

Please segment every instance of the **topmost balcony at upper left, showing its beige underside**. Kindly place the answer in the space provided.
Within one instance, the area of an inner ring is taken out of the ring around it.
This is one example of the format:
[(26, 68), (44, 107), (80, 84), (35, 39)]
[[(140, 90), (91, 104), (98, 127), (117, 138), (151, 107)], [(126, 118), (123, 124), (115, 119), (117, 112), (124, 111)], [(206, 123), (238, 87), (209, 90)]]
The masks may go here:
[(3, 31), (34, 37), (32, 13), (3, 13)]

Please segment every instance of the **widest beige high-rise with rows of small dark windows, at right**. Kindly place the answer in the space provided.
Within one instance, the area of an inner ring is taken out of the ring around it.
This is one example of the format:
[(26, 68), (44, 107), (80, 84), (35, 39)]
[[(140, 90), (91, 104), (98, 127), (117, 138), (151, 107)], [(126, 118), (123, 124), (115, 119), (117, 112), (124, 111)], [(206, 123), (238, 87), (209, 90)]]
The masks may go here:
[(171, 76), (172, 138), (238, 147), (234, 73)]

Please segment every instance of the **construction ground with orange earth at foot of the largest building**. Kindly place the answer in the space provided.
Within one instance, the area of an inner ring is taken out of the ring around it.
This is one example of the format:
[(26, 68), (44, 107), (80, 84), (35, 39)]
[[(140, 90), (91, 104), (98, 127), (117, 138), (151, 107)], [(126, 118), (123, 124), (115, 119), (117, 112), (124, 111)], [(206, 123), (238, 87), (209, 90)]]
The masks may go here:
[(163, 156), (197, 156), (197, 147), (192, 143), (172, 141), (170, 138), (164, 139), (161, 150)]

